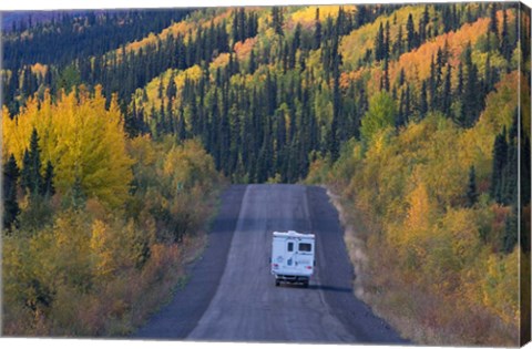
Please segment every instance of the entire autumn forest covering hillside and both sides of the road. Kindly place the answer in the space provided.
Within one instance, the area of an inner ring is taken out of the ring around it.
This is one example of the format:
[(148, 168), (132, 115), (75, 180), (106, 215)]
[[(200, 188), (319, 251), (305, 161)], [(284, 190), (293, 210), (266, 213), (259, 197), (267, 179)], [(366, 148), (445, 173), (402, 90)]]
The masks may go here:
[(358, 296), (403, 336), (516, 342), (519, 3), (89, 11), (2, 42), (4, 333), (127, 333), (225, 183), (306, 182), (340, 195)]

